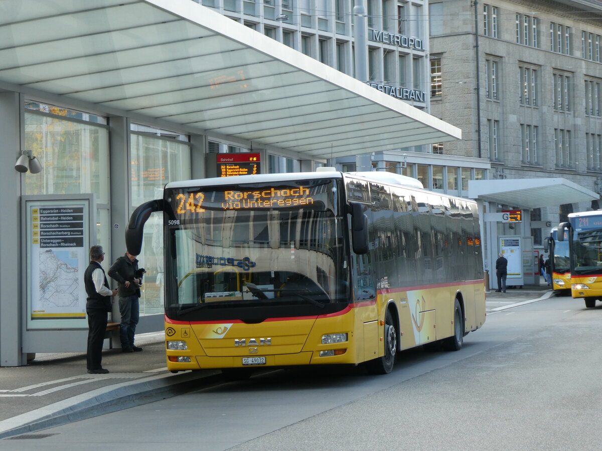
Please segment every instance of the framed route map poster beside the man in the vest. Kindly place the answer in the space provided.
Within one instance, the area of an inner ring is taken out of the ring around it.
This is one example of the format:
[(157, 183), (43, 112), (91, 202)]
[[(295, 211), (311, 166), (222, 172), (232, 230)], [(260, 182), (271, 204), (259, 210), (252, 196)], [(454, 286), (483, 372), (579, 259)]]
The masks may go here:
[(28, 329), (87, 327), (91, 205), (89, 198), (25, 200)]

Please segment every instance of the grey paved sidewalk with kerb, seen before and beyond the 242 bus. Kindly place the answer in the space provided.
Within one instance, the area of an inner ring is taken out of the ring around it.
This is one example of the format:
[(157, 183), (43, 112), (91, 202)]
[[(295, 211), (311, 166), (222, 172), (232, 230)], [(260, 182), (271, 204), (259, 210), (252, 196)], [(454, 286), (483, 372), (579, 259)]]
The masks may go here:
[[(547, 286), (487, 293), (488, 314), (500, 307), (554, 296)], [(486, 327), (486, 323), (485, 323)], [(0, 439), (31, 434), (99, 414), (175, 396), (223, 381), (219, 370), (170, 373), (165, 363), (164, 333), (141, 334), (144, 351), (105, 349), (108, 374), (86, 371), (85, 353), (38, 354), (22, 367), (0, 368)]]

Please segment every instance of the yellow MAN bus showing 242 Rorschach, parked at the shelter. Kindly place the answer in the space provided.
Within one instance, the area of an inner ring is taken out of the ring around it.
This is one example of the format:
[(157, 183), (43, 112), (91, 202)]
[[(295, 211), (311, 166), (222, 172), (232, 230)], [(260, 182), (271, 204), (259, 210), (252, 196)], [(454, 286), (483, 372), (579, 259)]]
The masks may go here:
[(167, 368), (365, 364), (456, 351), (485, 322), (477, 207), (389, 173), (168, 183), (132, 213), (128, 252), (163, 212)]

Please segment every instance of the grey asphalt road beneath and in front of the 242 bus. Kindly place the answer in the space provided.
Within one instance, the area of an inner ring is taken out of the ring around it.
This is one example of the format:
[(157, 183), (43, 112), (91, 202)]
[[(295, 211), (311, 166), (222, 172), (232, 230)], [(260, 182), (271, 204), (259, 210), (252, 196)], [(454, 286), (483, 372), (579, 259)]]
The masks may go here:
[(459, 352), (403, 352), (390, 375), (265, 372), (0, 449), (598, 450), (601, 330), (602, 307), (551, 298), (490, 311)]

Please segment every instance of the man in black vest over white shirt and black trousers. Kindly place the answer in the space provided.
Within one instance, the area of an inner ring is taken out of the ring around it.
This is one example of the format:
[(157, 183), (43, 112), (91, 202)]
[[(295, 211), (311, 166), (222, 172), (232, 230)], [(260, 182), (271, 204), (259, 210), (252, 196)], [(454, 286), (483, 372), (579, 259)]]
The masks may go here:
[(85, 313), (88, 314), (88, 373), (105, 374), (109, 370), (101, 366), (102, 342), (107, 331), (107, 313), (111, 311), (111, 297), (117, 294), (117, 290), (111, 290), (102, 269), (101, 263), (105, 259), (102, 246), (90, 248), (90, 265), (84, 272), (85, 292), (87, 302)]

